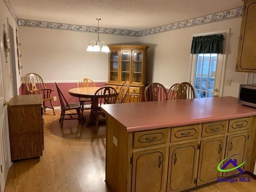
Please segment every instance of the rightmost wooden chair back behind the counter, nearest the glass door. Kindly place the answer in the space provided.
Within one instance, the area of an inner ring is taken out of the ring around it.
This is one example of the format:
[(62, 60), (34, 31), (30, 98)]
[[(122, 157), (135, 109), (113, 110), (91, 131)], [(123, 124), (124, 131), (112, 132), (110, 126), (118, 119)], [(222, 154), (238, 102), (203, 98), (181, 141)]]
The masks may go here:
[(188, 82), (183, 82), (179, 85), (177, 90), (178, 99), (194, 99), (195, 90)]

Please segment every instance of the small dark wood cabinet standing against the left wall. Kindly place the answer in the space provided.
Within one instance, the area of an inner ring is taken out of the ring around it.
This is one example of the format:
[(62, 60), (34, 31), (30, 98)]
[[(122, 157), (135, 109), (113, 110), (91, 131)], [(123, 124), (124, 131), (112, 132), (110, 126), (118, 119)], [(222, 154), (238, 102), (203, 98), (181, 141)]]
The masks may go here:
[(42, 95), (20, 95), (10, 100), (8, 122), (12, 161), (43, 155), (42, 115)]

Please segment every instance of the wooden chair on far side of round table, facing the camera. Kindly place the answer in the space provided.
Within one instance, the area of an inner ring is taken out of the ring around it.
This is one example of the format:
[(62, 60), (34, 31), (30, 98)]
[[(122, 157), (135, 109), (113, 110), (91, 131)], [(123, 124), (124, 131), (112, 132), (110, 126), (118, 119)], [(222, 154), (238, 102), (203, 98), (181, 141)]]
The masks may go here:
[[(95, 87), (95, 83), (89, 78), (82, 78), (78, 81), (77, 87), (78, 88), (80, 88), (80, 87)], [(92, 100), (90, 98), (79, 98), (79, 102), (81, 105), (81, 111), (82, 111), (82, 116), (83, 116), (84, 110), (91, 108), (91, 106), (84, 108), (84, 105), (86, 105), (86, 104), (91, 105)]]

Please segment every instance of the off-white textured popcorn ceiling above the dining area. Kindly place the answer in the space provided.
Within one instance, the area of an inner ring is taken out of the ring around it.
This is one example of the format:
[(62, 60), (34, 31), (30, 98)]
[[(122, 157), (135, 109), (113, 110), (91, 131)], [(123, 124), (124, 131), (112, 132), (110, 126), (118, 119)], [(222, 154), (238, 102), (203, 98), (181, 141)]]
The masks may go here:
[(242, 0), (9, 0), (19, 19), (146, 30), (236, 8)]

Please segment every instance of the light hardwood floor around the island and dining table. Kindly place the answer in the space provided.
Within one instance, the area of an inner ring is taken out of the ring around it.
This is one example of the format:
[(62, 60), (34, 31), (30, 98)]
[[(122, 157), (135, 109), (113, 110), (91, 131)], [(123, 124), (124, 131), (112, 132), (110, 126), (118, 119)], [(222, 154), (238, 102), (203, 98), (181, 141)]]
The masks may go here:
[[(51, 110), (44, 114), (44, 153), (39, 159), (15, 162), (9, 170), (5, 192), (109, 192), (105, 185), (106, 126), (94, 134), (78, 121), (64, 121)], [(256, 180), (216, 183), (193, 192), (253, 192)]]

